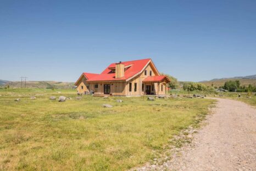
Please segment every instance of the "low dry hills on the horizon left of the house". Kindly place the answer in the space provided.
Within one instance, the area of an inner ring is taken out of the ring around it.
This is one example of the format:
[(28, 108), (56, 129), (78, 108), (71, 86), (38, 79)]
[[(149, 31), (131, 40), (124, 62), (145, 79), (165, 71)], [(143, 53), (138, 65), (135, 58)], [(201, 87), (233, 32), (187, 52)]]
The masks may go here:
[[(7, 86), (9, 85), (10, 88), (20, 88), (21, 82), (20, 81), (12, 81), (12, 82), (5, 82), (0, 86)], [(25, 86), (25, 82), (23, 82), (23, 88)], [(70, 89), (73, 88), (73, 82), (57, 82), (57, 81), (27, 81), (26, 88), (55, 88), (55, 89)]]

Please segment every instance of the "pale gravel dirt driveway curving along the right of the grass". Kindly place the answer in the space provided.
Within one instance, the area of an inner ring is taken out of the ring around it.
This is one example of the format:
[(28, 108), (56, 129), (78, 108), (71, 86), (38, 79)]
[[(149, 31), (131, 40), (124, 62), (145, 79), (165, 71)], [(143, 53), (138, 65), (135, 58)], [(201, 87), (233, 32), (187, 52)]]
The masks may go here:
[(256, 170), (256, 109), (219, 99), (192, 143), (163, 166), (142, 170)]

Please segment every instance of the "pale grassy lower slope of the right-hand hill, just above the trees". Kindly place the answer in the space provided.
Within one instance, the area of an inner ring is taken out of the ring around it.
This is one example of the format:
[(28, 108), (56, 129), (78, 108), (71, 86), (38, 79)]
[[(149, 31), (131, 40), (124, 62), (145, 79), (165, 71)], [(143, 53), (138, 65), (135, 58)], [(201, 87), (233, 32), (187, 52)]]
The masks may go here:
[(232, 81), (239, 80), (241, 83), (241, 86), (243, 86), (243, 85), (248, 86), (249, 84), (256, 86), (256, 79), (217, 79), (217, 80), (213, 80), (213, 81), (204, 81), (201, 83), (203, 83), (207, 86), (212, 86), (212, 84), (213, 84), (213, 87), (215, 87), (215, 86), (220, 87), (220, 86), (224, 86), (224, 83), (229, 80), (232, 80)]

